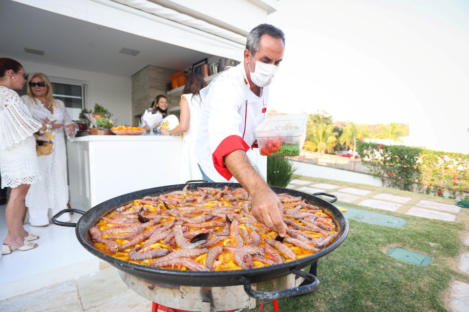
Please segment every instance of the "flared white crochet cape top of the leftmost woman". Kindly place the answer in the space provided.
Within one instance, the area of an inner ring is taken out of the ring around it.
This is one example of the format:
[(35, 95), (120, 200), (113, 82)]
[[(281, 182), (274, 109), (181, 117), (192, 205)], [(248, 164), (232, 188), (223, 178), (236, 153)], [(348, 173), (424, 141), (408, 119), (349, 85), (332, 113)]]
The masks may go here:
[(0, 86), (0, 149), (8, 149), (33, 135), (42, 123), (31, 117), (20, 96)]

